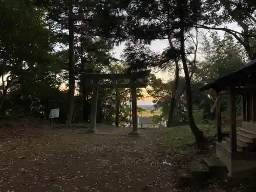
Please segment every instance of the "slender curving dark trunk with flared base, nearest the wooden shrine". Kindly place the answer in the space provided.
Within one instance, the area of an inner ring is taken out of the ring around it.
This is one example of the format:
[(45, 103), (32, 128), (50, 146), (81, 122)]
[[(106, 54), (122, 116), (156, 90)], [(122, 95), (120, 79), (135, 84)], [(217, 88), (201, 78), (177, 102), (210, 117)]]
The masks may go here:
[[(184, 23), (185, 22), (183, 20), (181, 24), (184, 25)], [(185, 81), (186, 81), (186, 100), (187, 100), (188, 121), (189, 121), (190, 129), (195, 136), (196, 142), (198, 143), (198, 146), (200, 146), (205, 141), (205, 138), (204, 138), (203, 132), (198, 129), (193, 117), (191, 83), (190, 83), (190, 76), (188, 72), (187, 60), (186, 60), (186, 54), (185, 54), (184, 26), (182, 26), (181, 28), (180, 38), (181, 38), (181, 60), (182, 60), (184, 74), (185, 74)]]

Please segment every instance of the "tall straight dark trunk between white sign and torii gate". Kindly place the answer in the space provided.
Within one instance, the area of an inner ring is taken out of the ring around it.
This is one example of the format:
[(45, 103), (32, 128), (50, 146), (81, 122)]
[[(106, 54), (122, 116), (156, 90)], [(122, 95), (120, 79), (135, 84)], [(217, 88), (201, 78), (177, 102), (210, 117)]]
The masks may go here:
[(75, 53), (74, 53), (73, 2), (69, 0), (69, 91), (66, 123), (71, 124), (75, 105)]

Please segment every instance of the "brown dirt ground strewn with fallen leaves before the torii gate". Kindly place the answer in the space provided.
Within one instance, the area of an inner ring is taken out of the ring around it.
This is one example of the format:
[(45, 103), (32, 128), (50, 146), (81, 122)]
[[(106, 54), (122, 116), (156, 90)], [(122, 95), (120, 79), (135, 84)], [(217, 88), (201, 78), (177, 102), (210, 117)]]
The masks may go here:
[[(177, 169), (205, 154), (182, 145), (180, 136), (159, 129), (141, 130), (141, 137), (122, 136), (130, 132), (125, 128), (98, 130), (113, 135), (2, 128), (0, 191), (195, 191), (175, 188)], [(245, 190), (213, 182), (197, 191)]]

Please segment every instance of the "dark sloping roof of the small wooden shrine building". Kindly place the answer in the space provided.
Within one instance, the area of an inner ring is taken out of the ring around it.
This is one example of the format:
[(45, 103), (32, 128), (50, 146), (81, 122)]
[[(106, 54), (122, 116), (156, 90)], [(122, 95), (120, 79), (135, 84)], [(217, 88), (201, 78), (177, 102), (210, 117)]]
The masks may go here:
[(245, 66), (233, 73), (205, 84), (200, 91), (214, 89), (217, 92), (226, 90), (227, 87), (243, 86), (246, 83), (256, 82), (256, 59), (249, 61)]

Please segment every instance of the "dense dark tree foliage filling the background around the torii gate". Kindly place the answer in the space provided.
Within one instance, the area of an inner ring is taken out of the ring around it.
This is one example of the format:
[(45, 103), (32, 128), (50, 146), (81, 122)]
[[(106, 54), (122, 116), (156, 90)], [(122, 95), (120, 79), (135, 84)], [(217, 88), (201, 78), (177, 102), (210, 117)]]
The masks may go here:
[[(88, 122), (92, 81), (84, 72), (153, 68), (174, 71), (166, 82), (149, 79), (147, 92), (161, 118), (168, 125), (189, 123), (198, 135), (194, 118), (212, 120), (215, 100), (199, 87), (256, 57), (255, 3), (249, 0), (4, 0), (0, 20), (2, 117), (47, 118), (60, 108), (61, 122)], [(149, 48), (157, 39), (169, 44), (162, 53)], [(124, 41), (122, 58), (114, 58), (113, 48)], [(127, 89), (101, 90), (97, 122), (130, 121), (130, 102)]]

